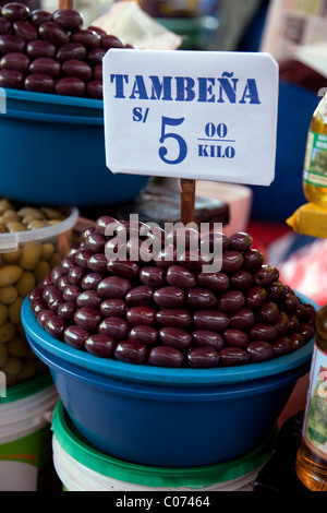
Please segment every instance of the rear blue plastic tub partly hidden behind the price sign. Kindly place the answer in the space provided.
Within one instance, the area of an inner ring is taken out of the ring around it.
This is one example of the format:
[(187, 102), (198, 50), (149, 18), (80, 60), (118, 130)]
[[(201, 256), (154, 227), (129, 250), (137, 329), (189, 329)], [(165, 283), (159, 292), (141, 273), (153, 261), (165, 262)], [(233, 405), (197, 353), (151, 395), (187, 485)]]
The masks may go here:
[(16, 201), (94, 206), (133, 200), (148, 177), (106, 166), (104, 103), (5, 90), (0, 191)]

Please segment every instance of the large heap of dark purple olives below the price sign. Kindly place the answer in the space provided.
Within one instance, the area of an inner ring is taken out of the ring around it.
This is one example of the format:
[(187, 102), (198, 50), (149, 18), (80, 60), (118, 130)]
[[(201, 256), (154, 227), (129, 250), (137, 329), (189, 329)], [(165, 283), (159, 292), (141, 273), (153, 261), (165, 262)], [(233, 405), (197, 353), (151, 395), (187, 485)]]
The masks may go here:
[[(116, 230), (107, 236), (110, 223)], [(100, 217), (84, 231), (78, 249), (29, 294), (32, 310), (50, 335), (98, 357), (170, 368), (261, 362), (314, 336), (314, 307), (279, 279), (276, 267), (264, 264), (249, 234), (218, 234), (221, 270), (210, 273), (201, 256), (194, 258), (194, 246), (191, 250), (186, 242), (181, 255), (173, 235), (140, 225), (137, 238), (130, 222)], [(118, 251), (121, 229), (128, 234), (128, 256), (108, 259), (106, 248)], [(150, 237), (160, 240), (158, 254), (146, 262), (129, 258)], [(205, 239), (210, 248), (217, 234), (196, 237), (202, 254)]]

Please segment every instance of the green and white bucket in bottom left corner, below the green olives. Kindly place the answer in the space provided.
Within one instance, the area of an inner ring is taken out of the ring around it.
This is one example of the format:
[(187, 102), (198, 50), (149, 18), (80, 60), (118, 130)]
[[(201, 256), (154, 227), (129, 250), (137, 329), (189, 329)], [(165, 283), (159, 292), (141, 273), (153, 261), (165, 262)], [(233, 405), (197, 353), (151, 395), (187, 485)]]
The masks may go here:
[(58, 394), (49, 373), (0, 397), (0, 491), (37, 491), (52, 463), (51, 417)]

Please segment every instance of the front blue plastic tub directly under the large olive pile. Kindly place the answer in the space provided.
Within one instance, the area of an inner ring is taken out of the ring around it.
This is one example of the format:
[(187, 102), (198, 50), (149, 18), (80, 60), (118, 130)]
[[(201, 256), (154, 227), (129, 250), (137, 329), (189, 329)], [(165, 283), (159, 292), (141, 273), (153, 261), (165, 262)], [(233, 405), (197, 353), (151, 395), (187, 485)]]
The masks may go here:
[(311, 341), (262, 363), (164, 369), (101, 359), (56, 341), (28, 300), (22, 322), (85, 439), (113, 457), (159, 467), (211, 465), (251, 451), (308, 371), (313, 350)]

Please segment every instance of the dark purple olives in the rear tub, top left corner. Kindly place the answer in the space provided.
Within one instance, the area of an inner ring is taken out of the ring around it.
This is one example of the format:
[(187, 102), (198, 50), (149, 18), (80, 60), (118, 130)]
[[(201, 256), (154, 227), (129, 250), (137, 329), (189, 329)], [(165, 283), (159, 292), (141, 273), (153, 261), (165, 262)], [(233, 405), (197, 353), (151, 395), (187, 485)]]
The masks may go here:
[(132, 48), (98, 27), (83, 27), (73, 9), (52, 14), (19, 3), (0, 10), (0, 86), (102, 98), (102, 58)]

